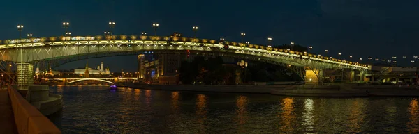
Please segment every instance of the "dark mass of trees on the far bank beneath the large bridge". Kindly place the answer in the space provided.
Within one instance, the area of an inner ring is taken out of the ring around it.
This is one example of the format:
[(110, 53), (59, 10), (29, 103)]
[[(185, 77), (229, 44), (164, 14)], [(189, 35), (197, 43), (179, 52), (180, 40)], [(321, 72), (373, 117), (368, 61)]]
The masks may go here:
[[(225, 64), (223, 58), (196, 57), (182, 61), (179, 79), (184, 84), (229, 85), (251, 82), (290, 81), (290, 69), (265, 62), (247, 61), (248, 67)], [(293, 81), (301, 81), (300, 76), (291, 72)]]

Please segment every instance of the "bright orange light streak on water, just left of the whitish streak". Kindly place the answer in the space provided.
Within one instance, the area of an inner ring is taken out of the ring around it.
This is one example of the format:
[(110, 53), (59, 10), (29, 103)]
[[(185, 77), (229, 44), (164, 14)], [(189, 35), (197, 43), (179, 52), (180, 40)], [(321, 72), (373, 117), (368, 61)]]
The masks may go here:
[(279, 115), (282, 118), (282, 122), (279, 126), (279, 131), (282, 133), (291, 133), (294, 131), (291, 123), (295, 119), (293, 98), (287, 97), (282, 99), (282, 110), (283, 112)]

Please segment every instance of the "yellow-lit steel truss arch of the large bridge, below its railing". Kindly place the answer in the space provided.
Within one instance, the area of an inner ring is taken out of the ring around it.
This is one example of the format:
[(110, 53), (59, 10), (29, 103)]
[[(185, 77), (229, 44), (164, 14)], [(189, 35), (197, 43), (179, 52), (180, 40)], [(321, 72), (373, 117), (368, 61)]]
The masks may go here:
[[(49, 45), (46, 45), (49, 44)], [(17, 44), (18, 45), (18, 44)], [(24, 47), (23, 62), (30, 62), (38, 66), (40, 71), (64, 65), (67, 62), (87, 58), (106, 56), (138, 55), (144, 51), (154, 53), (205, 53), (210, 55), (230, 56), (249, 60), (260, 60), (275, 65), (288, 67), (302, 79), (305, 69), (332, 69), (350, 68), (365, 70), (361, 65), (346, 64), (332, 60), (323, 60), (295, 53), (256, 49), (251, 47), (237, 47), (229, 45), (228, 49), (223, 44), (176, 42), (176, 41), (150, 41), (150, 40), (92, 40), (71, 42), (45, 42), (44, 45)], [(0, 49), (2, 61), (20, 62), (20, 47)], [(315, 73), (316, 74), (316, 73)], [(319, 79), (320, 80), (320, 79)]]

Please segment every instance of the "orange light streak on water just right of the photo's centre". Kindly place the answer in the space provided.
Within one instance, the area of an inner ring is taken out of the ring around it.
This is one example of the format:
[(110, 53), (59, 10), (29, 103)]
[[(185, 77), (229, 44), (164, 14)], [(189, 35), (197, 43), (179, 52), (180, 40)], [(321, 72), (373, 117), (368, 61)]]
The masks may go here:
[(239, 133), (244, 133), (243, 124), (247, 121), (247, 97), (240, 95), (239, 97), (236, 97), (236, 114), (237, 114), (237, 126)]

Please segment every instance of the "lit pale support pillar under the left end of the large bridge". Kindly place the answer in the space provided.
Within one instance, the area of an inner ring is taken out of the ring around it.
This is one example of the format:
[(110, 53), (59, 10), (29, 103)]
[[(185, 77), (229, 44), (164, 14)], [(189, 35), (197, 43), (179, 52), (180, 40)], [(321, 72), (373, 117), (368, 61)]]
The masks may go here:
[(23, 86), (26, 89), (29, 85), (34, 84), (34, 65), (30, 63), (17, 63), (17, 85), (18, 88)]

